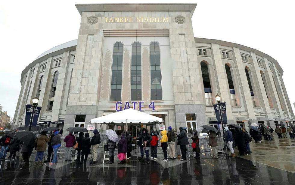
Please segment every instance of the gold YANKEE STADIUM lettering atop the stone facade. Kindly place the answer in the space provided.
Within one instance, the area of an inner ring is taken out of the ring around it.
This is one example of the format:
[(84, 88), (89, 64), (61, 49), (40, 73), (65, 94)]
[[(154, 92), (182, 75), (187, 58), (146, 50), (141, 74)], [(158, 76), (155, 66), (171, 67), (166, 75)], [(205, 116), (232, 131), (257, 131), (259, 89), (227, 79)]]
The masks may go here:
[(169, 22), (168, 17), (104, 17), (105, 22)]

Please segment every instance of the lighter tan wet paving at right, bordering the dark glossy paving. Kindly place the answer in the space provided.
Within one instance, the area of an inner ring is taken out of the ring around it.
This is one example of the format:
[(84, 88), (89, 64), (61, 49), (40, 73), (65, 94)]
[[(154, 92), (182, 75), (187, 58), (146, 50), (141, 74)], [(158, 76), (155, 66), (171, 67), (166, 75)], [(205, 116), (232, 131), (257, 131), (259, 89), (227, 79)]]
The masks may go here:
[(242, 158), (295, 173), (295, 139), (275, 137), (272, 141), (263, 140), (250, 145), (252, 154)]

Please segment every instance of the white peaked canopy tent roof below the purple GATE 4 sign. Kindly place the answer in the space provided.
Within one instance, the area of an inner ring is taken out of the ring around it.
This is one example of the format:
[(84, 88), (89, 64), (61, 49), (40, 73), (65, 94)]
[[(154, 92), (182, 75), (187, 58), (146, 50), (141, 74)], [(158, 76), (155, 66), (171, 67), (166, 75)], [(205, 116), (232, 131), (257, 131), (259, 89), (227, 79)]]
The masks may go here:
[(138, 110), (125, 109), (123, 111), (114, 112), (109, 115), (94, 118), (90, 122), (91, 124), (155, 124), (163, 123), (163, 119), (144, 112), (140, 112)]

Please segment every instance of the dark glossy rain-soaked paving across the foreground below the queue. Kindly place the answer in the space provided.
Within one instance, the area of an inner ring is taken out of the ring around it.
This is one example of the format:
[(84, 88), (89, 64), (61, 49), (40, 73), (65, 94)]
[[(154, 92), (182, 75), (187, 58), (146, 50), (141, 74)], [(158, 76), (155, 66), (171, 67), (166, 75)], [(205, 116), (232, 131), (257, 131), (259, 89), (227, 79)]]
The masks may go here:
[[(277, 141), (278, 142), (278, 141)], [(280, 141), (277, 145), (263, 142), (260, 145), (252, 144), (253, 153), (245, 158), (259, 160), (259, 148), (265, 147), (267, 152), (275, 151), (276, 148), (287, 148), (290, 145)], [(292, 145), (290, 145), (292, 146)], [(257, 149), (256, 149), (257, 148)], [(257, 151), (256, 151), (257, 150)], [(288, 150), (288, 149), (286, 149)], [(291, 147), (290, 150), (293, 150)], [(274, 154), (273, 154), (274, 153)], [(278, 159), (276, 152), (271, 152), (270, 160)], [(254, 157), (257, 154), (258, 157)], [(280, 153), (281, 154), (281, 153)], [(292, 155), (292, 154), (287, 154)], [(102, 154), (100, 154), (100, 157)], [(0, 185), (6, 184), (105, 184), (105, 185), (127, 185), (127, 184), (163, 184), (163, 185), (221, 185), (221, 184), (244, 184), (244, 185), (294, 185), (295, 173), (278, 169), (262, 163), (253, 162), (237, 157), (211, 159), (208, 154), (201, 154), (200, 160), (191, 159), (188, 161), (168, 161), (164, 162), (162, 155), (157, 161), (151, 161), (144, 166), (132, 156), (129, 164), (118, 165), (118, 160), (114, 164), (107, 165), (98, 162), (86, 166), (79, 165), (75, 161), (64, 162), (59, 160), (56, 165), (48, 163), (30, 162), (29, 166), (20, 166), (20, 159), (15, 161), (1, 161), (0, 163)], [(268, 157), (266, 157), (268, 158)], [(31, 157), (33, 159), (33, 156)], [(262, 157), (260, 158), (262, 159)], [(293, 161), (293, 160), (292, 160)], [(264, 163), (264, 162), (263, 162)], [(270, 162), (271, 163), (271, 162)], [(291, 162), (290, 165), (295, 165)]]

